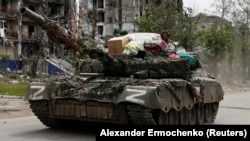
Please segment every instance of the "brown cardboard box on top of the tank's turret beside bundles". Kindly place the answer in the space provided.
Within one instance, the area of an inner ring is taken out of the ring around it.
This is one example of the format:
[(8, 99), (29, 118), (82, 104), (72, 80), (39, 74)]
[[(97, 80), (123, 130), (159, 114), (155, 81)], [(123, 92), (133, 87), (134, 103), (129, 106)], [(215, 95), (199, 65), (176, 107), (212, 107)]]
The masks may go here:
[(113, 37), (108, 40), (108, 52), (110, 55), (122, 54), (124, 46), (129, 43), (129, 36)]

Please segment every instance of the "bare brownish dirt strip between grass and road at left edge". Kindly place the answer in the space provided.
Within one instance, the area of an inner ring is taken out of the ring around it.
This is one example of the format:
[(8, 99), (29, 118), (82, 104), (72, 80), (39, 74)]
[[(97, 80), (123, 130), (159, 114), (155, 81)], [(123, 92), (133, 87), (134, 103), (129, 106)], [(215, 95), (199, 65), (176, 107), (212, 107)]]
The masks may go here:
[(0, 95), (0, 119), (33, 116), (28, 101), (19, 96)]

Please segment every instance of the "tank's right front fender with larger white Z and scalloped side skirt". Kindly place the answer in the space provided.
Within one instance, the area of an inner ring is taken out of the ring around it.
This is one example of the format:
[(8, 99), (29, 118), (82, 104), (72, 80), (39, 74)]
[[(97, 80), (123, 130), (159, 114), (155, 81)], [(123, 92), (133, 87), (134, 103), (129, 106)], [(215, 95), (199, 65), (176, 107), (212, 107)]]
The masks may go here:
[(193, 107), (194, 98), (188, 92), (187, 87), (173, 88), (171, 92), (167, 85), (171, 85), (171, 83), (163, 83), (158, 87), (126, 86), (118, 98), (117, 104), (134, 103), (150, 109), (161, 109), (164, 112), (168, 112), (171, 108), (179, 111), (183, 107), (188, 109)]

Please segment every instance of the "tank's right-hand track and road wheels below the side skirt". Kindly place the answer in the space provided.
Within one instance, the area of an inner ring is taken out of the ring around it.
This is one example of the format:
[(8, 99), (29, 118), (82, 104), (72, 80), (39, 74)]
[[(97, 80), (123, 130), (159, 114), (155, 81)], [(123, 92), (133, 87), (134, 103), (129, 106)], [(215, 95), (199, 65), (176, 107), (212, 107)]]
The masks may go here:
[[(195, 125), (213, 124), (218, 112), (219, 103), (196, 104), (185, 112), (171, 109), (160, 115), (160, 111), (151, 110), (140, 105), (127, 105), (129, 123), (132, 125)], [(184, 118), (181, 118), (184, 117)]]

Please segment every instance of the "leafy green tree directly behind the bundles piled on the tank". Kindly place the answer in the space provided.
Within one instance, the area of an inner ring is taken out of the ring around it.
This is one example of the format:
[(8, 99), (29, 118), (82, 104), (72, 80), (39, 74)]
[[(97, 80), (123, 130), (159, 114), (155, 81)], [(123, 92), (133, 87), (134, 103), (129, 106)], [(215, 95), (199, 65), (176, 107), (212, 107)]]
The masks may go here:
[(173, 41), (179, 41), (185, 49), (191, 50), (196, 38), (194, 30), (197, 27), (191, 14), (191, 9), (179, 10), (175, 0), (162, 5), (149, 3), (146, 5), (145, 15), (136, 14), (135, 25), (139, 32), (160, 33), (168, 30)]

